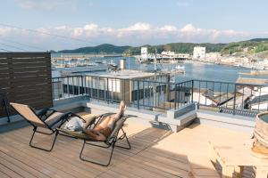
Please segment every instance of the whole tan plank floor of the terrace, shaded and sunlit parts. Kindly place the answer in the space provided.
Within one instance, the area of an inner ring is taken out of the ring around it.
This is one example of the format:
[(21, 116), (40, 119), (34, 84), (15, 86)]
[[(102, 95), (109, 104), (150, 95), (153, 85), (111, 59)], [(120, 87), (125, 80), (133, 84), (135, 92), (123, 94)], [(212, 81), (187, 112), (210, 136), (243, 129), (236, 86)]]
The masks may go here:
[[(83, 113), (85, 114), (85, 113)], [(189, 125), (179, 133), (152, 128), (137, 118), (124, 126), (131, 150), (115, 149), (111, 166), (80, 161), (82, 142), (60, 135), (52, 152), (29, 147), (31, 127), (1, 134), (1, 177), (219, 177), (209, 159), (208, 141), (250, 142), (250, 135), (208, 125)], [(211, 134), (214, 133), (214, 134)], [(40, 136), (36, 144), (49, 144)], [(119, 142), (124, 144), (124, 142)], [(85, 155), (105, 158), (106, 150), (88, 148)], [(219, 168), (219, 167), (218, 167)], [(221, 171), (219, 168), (218, 171)], [(251, 177), (248, 168), (243, 177)]]

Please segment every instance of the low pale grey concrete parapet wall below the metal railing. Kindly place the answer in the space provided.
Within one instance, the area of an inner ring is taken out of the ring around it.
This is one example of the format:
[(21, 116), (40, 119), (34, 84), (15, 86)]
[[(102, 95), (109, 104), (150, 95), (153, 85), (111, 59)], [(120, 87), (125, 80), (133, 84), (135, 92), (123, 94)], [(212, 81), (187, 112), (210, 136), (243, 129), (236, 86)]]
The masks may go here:
[[(62, 112), (73, 111), (87, 111), (93, 114), (103, 114), (106, 112), (117, 112), (118, 104), (107, 104), (105, 102), (90, 101), (87, 97), (80, 96), (76, 98), (54, 101), (54, 108)], [(167, 111), (167, 114), (129, 107), (126, 114), (134, 115), (137, 117), (136, 122), (144, 125), (151, 125), (158, 128), (172, 130), (178, 132), (188, 124), (197, 122), (204, 125), (213, 125), (219, 127), (225, 127), (235, 131), (252, 133), (255, 127), (255, 118), (253, 117), (241, 117), (233, 116), (230, 114), (224, 114), (214, 111), (205, 111), (197, 109), (195, 104), (185, 106), (180, 109), (171, 109)], [(0, 119), (0, 133), (5, 131), (9, 125), (16, 125), (23, 120), (20, 116), (16, 115), (12, 117), (12, 124), (6, 123), (6, 118)], [(22, 122), (26, 125), (26, 122)]]

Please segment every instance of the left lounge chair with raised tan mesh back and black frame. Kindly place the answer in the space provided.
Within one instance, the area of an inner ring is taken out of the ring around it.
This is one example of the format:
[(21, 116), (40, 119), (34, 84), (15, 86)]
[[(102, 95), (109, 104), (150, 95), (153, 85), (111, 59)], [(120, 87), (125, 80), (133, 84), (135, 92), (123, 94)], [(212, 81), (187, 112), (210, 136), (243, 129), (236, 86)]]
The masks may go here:
[[(13, 106), (13, 109), (15, 109), (21, 115), (21, 117), (25, 118), (29, 122), (29, 124), (34, 127), (33, 134), (29, 141), (29, 146), (39, 149), (39, 150), (46, 150), (46, 151), (53, 150), (54, 142), (58, 135), (58, 131), (56, 130), (56, 128), (63, 125), (63, 123), (67, 120), (68, 117), (79, 117), (71, 112), (62, 113), (62, 112), (57, 112), (54, 109), (43, 109), (37, 113), (34, 109), (30, 108), (28, 105), (13, 103), (13, 102), (11, 102), (10, 104)], [(50, 133), (38, 131), (38, 127), (45, 128), (49, 130)], [(36, 133), (46, 134), (46, 135), (55, 134), (52, 146), (49, 149), (43, 149), (38, 146), (32, 145), (32, 140)]]

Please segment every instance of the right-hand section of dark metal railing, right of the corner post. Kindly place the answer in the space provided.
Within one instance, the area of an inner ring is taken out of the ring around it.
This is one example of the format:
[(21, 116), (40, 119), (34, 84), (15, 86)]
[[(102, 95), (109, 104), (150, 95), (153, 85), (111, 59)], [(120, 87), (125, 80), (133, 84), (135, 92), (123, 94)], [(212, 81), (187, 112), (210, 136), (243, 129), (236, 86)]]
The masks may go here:
[(268, 85), (194, 80), (193, 86), (193, 101), (199, 109), (247, 117), (268, 110)]

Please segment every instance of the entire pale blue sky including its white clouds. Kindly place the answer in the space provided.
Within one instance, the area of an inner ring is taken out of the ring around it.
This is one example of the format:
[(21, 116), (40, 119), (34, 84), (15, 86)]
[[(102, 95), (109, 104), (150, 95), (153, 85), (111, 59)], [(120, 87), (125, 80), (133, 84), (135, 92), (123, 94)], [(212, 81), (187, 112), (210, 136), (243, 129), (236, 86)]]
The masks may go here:
[(0, 52), (268, 37), (267, 0), (1, 0)]

